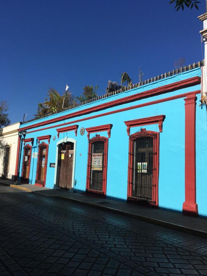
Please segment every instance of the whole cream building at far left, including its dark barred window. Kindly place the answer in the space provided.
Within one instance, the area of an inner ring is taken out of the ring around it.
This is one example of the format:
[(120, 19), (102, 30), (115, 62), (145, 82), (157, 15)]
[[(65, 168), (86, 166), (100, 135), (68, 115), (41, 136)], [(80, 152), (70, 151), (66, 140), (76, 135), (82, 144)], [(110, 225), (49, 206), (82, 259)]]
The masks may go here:
[(2, 128), (5, 150), (0, 155), (0, 177), (15, 180), (15, 167), (17, 160), (18, 128), (21, 122)]

